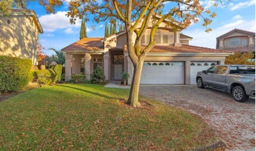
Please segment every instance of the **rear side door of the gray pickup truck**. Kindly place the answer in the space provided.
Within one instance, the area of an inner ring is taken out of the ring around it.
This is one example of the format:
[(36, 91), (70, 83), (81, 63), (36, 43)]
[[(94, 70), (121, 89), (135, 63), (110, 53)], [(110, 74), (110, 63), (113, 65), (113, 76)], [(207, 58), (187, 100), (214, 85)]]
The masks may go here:
[(213, 85), (214, 86), (220, 87), (223, 89), (228, 89), (228, 84), (226, 83), (226, 75), (227, 75), (226, 72), (227, 71), (228, 71), (228, 66), (220, 65), (217, 68), (216, 74), (213, 77), (213, 79), (214, 79)]

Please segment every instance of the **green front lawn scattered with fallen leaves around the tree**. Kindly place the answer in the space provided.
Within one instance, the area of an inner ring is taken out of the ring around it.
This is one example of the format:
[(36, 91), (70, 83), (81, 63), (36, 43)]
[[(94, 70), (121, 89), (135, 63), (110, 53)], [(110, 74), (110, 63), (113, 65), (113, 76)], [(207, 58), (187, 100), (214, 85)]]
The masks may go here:
[(128, 93), (63, 84), (0, 102), (0, 150), (187, 150), (216, 141), (188, 112), (144, 97), (155, 108), (120, 105)]

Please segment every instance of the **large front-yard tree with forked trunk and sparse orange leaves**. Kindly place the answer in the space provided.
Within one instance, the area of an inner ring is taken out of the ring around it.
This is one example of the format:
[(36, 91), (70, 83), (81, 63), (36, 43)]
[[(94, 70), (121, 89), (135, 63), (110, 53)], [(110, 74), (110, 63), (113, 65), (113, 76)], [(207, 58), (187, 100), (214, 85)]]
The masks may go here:
[[(20, 1), (29, 0), (14, 0)], [(30, 0), (32, 1), (32, 0)], [(55, 8), (63, 4), (65, 0), (40, 0), (40, 4), (45, 6), (47, 12), (55, 12)], [(67, 0), (66, 0), (67, 1)], [(205, 9), (200, 2), (203, 0), (71, 0), (67, 16), (70, 23), (74, 24), (77, 18), (82, 18), (87, 14), (87, 18), (93, 16), (95, 22), (106, 22), (109, 20), (119, 20), (125, 25), (126, 43), (129, 57), (134, 66), (131, 91), (127, 103), (133, 107), (140, 106), (138, 101), (140, 75), (143, 62), (147, 53), (155, 46), (154, 33), (158, 26), (166, 23), (166, 27), (174, 30), (187, 28), (192, 22), (196, 23), (199, 18), (202, 19), (202, 26), (205, 31), (210, 32), (208, 25), (212, 23), (211, 18), (216, 16), (215, 12)], [(211, 0), (213, 6), (228, 0)], [(169, 3), (171, 7), (165, 8)], [(158, 16), (158, 17), (157, 17)], [(159, 17), (160, 16), (160, 17)], [(167, 20), (167, 21), (166, 21)], [(171, 24), (170, 20), (178, 20), (181, 26)], [(145, 31), (150, 29), (150, 42), (141, 50), (141, 39)], [(113, 30), (113, 27), (112, 27)], [(111, 30), (111, 31), (112, 31)], [(136, 35), (135, 42), (132, 41), (132, 35)]]

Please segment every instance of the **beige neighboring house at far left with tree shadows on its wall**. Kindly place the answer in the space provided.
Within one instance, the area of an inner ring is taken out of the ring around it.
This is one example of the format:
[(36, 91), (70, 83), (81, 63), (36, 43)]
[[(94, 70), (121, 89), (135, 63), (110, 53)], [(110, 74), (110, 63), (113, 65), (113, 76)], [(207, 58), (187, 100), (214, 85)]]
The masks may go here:
[(0, 55), (32, 59), (38, 64), (38, 35), (43, 33), (36, 13), (12, 9), (11, 16), (0, 14)]

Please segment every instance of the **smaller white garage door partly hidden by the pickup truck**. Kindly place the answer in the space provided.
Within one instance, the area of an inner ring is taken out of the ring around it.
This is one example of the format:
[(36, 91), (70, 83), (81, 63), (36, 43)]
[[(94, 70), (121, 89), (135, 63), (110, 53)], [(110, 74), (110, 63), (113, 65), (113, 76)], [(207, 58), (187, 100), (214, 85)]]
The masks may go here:
[(196, 74), (199, 71), (207, 70), (216, 65), (217, 61), (191, 61), (190, 63), (190, 83), (196, 84)]

